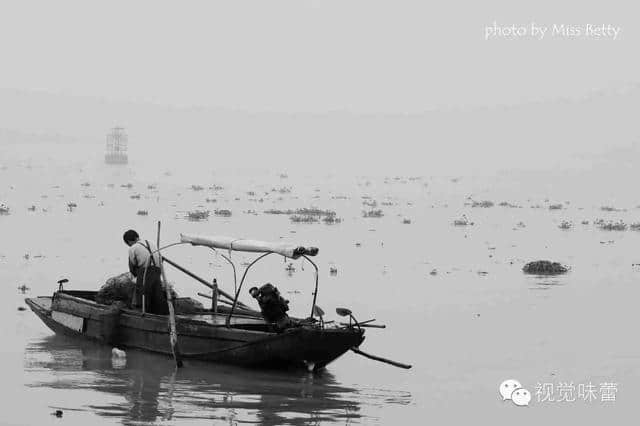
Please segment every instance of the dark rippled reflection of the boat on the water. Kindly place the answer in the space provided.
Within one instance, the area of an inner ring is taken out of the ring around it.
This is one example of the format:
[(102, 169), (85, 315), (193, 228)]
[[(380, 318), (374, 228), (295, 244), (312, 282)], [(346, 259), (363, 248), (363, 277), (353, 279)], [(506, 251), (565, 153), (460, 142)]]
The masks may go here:
[(25, 370), (44, 373), (29, 375), (40, 380), (28, 386), (109, 394), (104, 405), (80, 405), (125, 423), (349, 424), (361, 418), (363, 395), (326, 370), (262, 371), (197, 361), (177, 370), (159, 355), (132, 350), (126, 360), (112, 359), (109, 347), (62, 336), (27, 345)]

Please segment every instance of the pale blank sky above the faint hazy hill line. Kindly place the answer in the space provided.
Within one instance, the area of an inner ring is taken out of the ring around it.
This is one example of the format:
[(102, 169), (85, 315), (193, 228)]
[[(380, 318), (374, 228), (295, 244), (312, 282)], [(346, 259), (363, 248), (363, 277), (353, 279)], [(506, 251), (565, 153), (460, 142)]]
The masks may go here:
[[(0, 1), (0, 88), (251, 111), (425, 111), (637, 81), (636, 2)], [(612, 24), (617, 40), (485, 40)]]

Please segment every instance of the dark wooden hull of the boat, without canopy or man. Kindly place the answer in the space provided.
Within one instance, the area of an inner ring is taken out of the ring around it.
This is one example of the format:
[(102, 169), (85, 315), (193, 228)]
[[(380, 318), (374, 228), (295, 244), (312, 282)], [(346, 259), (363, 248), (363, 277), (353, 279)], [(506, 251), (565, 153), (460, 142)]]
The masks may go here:
[[(56, 334), (172, 353), (166, 316), (117, 310), (60, 292), (26, 303)], [(250, 317), (234, 317), (227, 327), (224, 315), (211, 313), (176, 318), (183, 358), (259, 368), (322, 368), (364, 340), (357, 329), (303, 326), (276, 333), (265, 331), (268, 327), (262, 319)]]

